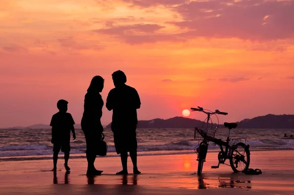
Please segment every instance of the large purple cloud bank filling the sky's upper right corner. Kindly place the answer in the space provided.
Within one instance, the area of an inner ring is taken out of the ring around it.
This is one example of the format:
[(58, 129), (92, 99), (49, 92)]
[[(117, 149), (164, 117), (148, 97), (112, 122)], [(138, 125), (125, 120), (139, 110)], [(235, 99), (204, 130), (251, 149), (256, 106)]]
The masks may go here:
[(292, 0), (191, 1), (174, 10), (184, 21), (172, 24), (190, 30), (181, 34), (185, 38), (277, 40), (294, 37)]

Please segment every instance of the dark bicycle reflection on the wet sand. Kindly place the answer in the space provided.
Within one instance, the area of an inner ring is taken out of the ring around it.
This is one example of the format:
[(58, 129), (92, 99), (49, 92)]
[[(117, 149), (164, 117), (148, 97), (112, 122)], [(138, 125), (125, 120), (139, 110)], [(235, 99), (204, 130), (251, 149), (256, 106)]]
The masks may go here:
[[(242, 180), (219, 180), (219, 188), (242, 188), (242, 189), (251, 189), (251, 181), (242, 181)], [(213, 188), (213, 185), (206, 183), (202, 178), (198, 179), (198, 189), (207, 189)]]

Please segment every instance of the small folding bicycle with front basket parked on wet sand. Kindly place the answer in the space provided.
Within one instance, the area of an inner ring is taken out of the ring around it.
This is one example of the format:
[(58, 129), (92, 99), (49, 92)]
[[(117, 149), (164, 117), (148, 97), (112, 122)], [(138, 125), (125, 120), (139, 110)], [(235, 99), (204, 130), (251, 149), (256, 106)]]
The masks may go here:
[[(219, 118), (217, 114), (219, 115), (227, 115), (226, 112), (220, 112), (219, 110), (216, 110), (215, 112), (212, 112), (207, 109), (203, 109), (198, 106), (198, 108), (191, 108), (191, 111), (199, 111), (203, 112), (207, 115), (207, 118), (202, 124), (201, 128), (194, 127), (194, 139), (201, 141), (200, 144), (198, 144), (198, 147), (195, 147), (195, 152), (197, 154), (197, 161), (198, 161), (198, 170), (197, 175), (202, 174), (202, 168), (204, 162), (206, 162), (206, 154), (208, 150), (208, 142), (213, 142), (215, 145), (218, 145), (221, 149), (221, 151), (218, 154), (218, 160), (219, 164), (217, 166), (212, 166), (212, 169), (218, 169), (220, 167), (220, 164), (224, 164), (227, 166), (231, 166), (232, 170), (234, 172), (244, 172), (247, 171), (250, 164), (250, 151), (249, 151), (249, 145), (246, 145), (246, 138), (235, 138), (230, 139), (230, 131), (233, 128), (236, 128), (238, 126), (237, 123), (232, 122), (224, 122), (224, 126), (228, 128), (228, 134), (226, 141), (222, 141), (221, 139), (215, 138), (215, 134), (219, 128)], [(217, 127), (213, 128), (213, 123), (211, 120), (211, 116), (215, 115), (218, 119)], [(211, 121), (211, 127), (209, 127), (209, 123)], [(204, 127), (204, 124), (207, 123), (206, 127)], [(245, 139), (244, 142), (238, 142), (240, 140)], [(238, 142), (237, 144), (235, 144)], [(223, 148), (225, 147), (225, 149)], [(230, 165), (225, 164), (225, 161), (229, 159)], [(242, 167), (242, 165), (244, 166)], [(241, 169), (240, 169), (241, 168)]]

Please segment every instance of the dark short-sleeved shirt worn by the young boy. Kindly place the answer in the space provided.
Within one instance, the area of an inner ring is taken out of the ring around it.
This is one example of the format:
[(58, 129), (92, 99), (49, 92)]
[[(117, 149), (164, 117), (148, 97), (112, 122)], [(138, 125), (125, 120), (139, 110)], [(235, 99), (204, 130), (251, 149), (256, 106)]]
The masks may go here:
[(73, 124), (75, 123), (70, 113), (57, 112), (54, 114), (50, 122), (50, 126), (52, 126), (52, 139), (61, 142), (70, 141)]

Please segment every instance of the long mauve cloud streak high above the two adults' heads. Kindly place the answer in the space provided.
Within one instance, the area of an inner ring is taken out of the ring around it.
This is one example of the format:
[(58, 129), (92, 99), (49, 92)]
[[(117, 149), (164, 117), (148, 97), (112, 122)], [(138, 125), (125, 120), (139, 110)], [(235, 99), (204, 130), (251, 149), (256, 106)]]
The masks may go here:
[(130, 45), (156, 43), (159, 41), (183, 42), (185, 39), (172, 34), (156, 33), (165, 26), (157, 24), (133, 24), (113, 26), (105, 29), (97, 29), (94, 32), (114, 35), (115, 38), (122, 39)]

